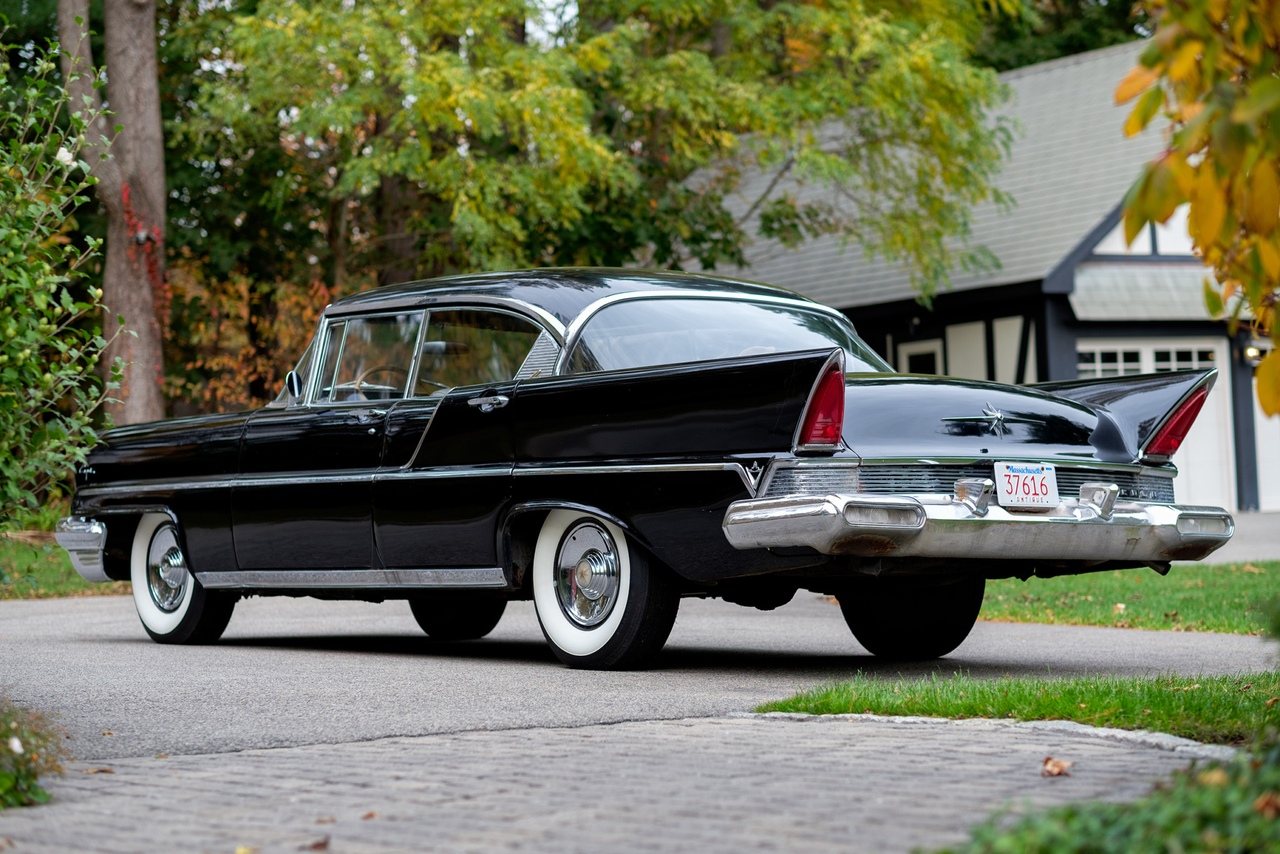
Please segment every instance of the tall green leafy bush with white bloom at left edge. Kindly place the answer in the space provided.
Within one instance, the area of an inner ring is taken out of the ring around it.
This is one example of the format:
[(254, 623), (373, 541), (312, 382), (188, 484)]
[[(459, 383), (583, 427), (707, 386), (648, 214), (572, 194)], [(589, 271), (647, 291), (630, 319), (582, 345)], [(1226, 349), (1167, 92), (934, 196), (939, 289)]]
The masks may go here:
[[(4, 55), (9, 55), (5, 49)], [(6, 60), (0, 60), (6, 61)], [(99, 248), (64, 232), (92, 179), (77, 160), (86, 123), (63, 114), (36, 51), (20, 77), (0, 69), (0, 524), (14, 525), (67, 481), (97, 433), (111, 384), (95, 375), (106, 342), (90, 328), (101, 291), (76, 287)]]

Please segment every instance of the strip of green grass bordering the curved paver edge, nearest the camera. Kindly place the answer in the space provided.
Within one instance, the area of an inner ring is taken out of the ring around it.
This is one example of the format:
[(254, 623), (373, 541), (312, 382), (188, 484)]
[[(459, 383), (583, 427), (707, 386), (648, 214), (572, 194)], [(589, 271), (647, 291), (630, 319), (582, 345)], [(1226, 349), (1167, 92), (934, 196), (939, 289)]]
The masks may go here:
[(886, 681), (858, 673), (847, 682), (805, 691), (756, 711), (1078, 721), (1242, 744), (1280, 723), (1277, 695), (1280, 673), (1276, 672), (1160, 679), (934, 676), (922, 681)]

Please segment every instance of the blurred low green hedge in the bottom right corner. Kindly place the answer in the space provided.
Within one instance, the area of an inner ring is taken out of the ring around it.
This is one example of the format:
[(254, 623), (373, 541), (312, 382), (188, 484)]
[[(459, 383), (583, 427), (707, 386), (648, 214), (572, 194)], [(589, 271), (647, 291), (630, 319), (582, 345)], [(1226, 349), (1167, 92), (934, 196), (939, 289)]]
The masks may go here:
[(1242, 754), (1175, 775), (1128, 804), (1084, 803), (1010, 823), (997, 813), (950, 851), (965, 854), (1166, 854), (1280, 850), (1280, 757)]

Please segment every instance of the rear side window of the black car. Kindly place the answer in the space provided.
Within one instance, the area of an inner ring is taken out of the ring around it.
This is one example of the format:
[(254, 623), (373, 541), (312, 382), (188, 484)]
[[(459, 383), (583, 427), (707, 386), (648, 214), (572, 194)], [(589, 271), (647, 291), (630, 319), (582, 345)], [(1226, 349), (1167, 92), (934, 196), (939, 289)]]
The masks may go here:
[(422, 337), (413, 394), (428, 397), (456, 385), (515, 379), (541, 332), (536, 324), (500, 311), (433, 311)]

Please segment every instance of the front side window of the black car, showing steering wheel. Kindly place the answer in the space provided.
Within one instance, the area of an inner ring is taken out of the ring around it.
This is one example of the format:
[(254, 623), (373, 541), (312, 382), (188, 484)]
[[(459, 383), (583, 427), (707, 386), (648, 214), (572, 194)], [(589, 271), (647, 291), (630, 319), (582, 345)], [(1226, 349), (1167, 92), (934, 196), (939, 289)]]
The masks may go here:
[(316, 402), (398, 401), (404, 397), (421, 326), (421, 312), (329, 324)]

